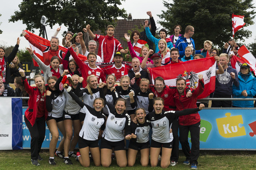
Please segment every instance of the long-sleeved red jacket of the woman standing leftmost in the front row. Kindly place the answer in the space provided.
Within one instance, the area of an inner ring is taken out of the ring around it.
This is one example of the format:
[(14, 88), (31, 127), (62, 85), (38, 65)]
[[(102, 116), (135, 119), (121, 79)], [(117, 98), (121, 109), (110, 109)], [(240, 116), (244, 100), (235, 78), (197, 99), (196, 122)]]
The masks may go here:
[[(37, 118), (37, 105), (38, 105), (38, 101), (37, 98), (40, 98), (41, 93), (40, 90), (38, 90), (37, 87), (31, 87), (29, 85), (29, 83), (26, 80), (26, 77), (22, 78), (23, 84), (25, 86), (25, 90), (27, 92), (27, 94), (29, 94), (29, 101), (27, 102), (27, 104), (29, 105), (29, 108), (27, 108), (27, 110), (25, 111), (25, 116), (26, 118), (29, 120), (29, 122), (31, 123), (31, 125), (34, 125), (34, 122), (36, 122), (36, 118)], [(44, 117), (45, 120), (48, 116), (48, 111), (46, 110), (46, 100), (44, 100)]]

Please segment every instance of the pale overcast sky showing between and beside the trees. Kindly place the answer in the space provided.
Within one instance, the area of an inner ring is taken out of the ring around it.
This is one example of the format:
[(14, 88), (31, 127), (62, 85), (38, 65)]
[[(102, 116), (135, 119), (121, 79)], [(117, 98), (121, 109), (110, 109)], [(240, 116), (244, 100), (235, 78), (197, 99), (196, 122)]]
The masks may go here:
[[(22, 0), (12, 0), (11, 4), (10, 1), (2, 1), (0, 6), (0, 13), (2, 16), (0, 17), (0, 22), (2, 24), (0, 25), (0, 30), (3, 31), (2, 34), (0, 34), (0, 46), (14, 46), (16, 44), (17, 38), (20, 36), (20, 33), (22, 33), (22, 30), (26, 28), (25, 24), (22, 24), (22, 21), (18, 21), (15, 23), (9, 23), (8, 20), (12, 15), (14, 15), (14, 12), (19, 10), (18, 5), (22, 2)], [(147, 15), (147, 11), (151, 11), (155, 21), (159, 21), (160, 18), (157, 17), (157, 14), (161, 14), (162, 11), (167, 10), (165, 6), (163, 5), (162, 1), (155, 1), (155, 0), (126, 0), (125, 2), (121, 1), (122, 5), (120, 8), (124, 8), (127, 12), (127, 14), (132, 13), (133, 19), (143, 19), (143, 18), (149, 18)], [(254, 6), (256, 6), (256, 0), (253, 0)], [(39, 16), (40, 20), (41, 16)], [(121, 18), (119, 18), (121, 19)], [(251, 42), (255, 42), (256, 39), (256, 17), (254, 18), (254, 24), (251, 26), (246, 27), (246, 29), (252, 31), (252, 37), (246, 39), (245, 44), (249, 44)], [(162, 26), (157, 23), (157, 29), (162, 29)], [(51, 37), (56, 29), (59, 27), (59, 25), (54, 25), (51, 29), (49, 26), (46, 26), (46, 32), (47, 36)], [(61, 26), (61, 31), (58, 34), (58, 37), (62, 39), (63, 37), (61, 34), (67, 31), (66, 27), (64, 25)], [(39, 34), (39, 29), (35, 30), (36, 34)], [(236, 37), (235, 37), (236, 38)], [(19, 49), (25, 49), (29, 43), (24, 37), (20, 38), (20, 48)]]

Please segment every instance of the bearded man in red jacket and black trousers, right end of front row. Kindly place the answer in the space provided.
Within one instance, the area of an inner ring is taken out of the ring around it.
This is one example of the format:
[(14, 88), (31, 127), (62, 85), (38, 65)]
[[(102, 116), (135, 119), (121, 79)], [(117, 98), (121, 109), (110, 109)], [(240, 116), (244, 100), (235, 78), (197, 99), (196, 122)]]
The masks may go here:
[[(191, 97), (186, 97), (186, 81), (179, 78), (176, 81), (176, 93), (174, 94), (174, 103), (177, 110), (188, 108), (197, 108), (197, 97), (204, 91), (203, 75), (198, 75), (198, 87), (193, 91)], [(197, 169), (197, 159), (199, 157), (199, 136), (200, 136), (200, 115), (198, 112), (191, 115), (179, 116), (179, 141), (182, 145), (182, 151), (186, 156), (183, 164), (191, 164), (191, 169)], [(191, 136), (191, 150), (188, 142), (188, 134)]]

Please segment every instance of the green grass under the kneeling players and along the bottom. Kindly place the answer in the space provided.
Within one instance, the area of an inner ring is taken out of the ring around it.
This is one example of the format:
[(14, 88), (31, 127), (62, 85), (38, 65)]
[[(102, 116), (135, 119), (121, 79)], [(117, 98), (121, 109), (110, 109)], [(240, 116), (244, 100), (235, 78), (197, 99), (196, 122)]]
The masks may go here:
[[(182, 151), (179, 152), (179, 162), (169, 169), (190, 169), (189, 165), (183, 165), (185, 160)], [(48, 164), (49, 150), (40, 153), (44, 159), (39, 161), (40, 166), (30, 164), (30, 150), (0, 151), (0, 169), (79, 169), (83, 168), (79, 162), (71, 158), (74, 165), (65, 165), (63, 159), (55, 158), (57, 165)], [(119, 168), (113, 160), (110, 168), (95, 167), (93, 164), (87, 169), (162, 169), (140, 166), (137, 159), (134, 167)], [(256, 169), (256, 151), (200, 151), (198, 169)]]

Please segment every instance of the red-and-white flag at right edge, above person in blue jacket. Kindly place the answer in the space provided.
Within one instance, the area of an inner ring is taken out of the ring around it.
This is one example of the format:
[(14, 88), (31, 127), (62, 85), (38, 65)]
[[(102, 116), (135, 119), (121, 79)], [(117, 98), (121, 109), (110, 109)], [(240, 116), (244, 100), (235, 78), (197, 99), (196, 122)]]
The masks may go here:
[(233, 55), (230, 61), (232, 67), (237, 70), (237, 73), (240, 72), (240, 66), (246, 62), (251, 67), (251, 71), (256, 75), (256, 59), (245, 45), (238, 49), (238, 54), (240, 58)]

